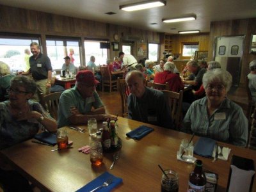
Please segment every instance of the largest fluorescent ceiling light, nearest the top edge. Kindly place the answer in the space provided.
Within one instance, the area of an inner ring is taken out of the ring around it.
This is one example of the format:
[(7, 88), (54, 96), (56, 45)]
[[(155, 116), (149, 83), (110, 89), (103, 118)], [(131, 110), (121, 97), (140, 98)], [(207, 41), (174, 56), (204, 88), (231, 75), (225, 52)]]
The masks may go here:
[(132, 12), (132, 11), (137, 11), (137, 10), (145, 10), (148, 8), (154, 8), (157, 6), (164, 6), (166, 5), (166, 1), (142, 1), (140, 3), (132, 3), (132, 4), (125, 4), (125, 5), (120, 5), (119, 8), (120, 10), (124, 10), (126, 12)]

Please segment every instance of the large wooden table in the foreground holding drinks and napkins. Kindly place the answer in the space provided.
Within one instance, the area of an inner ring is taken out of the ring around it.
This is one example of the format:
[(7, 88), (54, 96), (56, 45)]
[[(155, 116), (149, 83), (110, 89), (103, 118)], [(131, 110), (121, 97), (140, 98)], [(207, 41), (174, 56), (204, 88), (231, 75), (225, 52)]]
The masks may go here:
[[(99, 125), (101, 127), (101, 123)], [(0, 155), (43, 191), (76, 191), (106, 171), (123, 179), (123, 184), (115, 191), (160, 191), (162, 173), (157, 164), (179, 173), (179, 191), (186, 191), (188, 176), (194, 166), (178, 161), (177, 150), (180, 141), (190, 139), (191, 135), (148, 125), (155, 130), (140, 141), (125, 136), (125, 133), (140, 125), (141, 122), (118, 117), (122, 151), (113, 170), (109, 169), (113, 154), (104, 154), (104, 164), (98, 168), (93, 167), (89, 155), (77, 152), (77, 148), (90, 143), (88, 132), (83, 134), (68, 128), (69, 140), (74, 141), (74, 148), (51, 152), (53, 147), (31, 143), (29, 140), (1, 150)], [(194, 143), (196, 140), (198, 137), (195, 136)], [(212, 163), (212, 159), (195, 157), (203, 161), (206, 170), (218, 173), (218, 191), (225, 191), (232, 154), (255, 160), (256, 152), (233, 145), (221, 145), (232, 149), (228, 161), (218, 159)], [(256, 177), (253, 191), (256, 191)]]

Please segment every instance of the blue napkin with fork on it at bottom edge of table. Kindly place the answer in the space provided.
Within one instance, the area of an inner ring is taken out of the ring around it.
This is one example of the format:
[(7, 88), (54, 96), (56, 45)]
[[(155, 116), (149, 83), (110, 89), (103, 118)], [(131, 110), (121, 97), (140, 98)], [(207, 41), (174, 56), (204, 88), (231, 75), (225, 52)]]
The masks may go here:
[(108, 186), (101, 188), (97, 191), (111, 191), (113, 188), (115, 188), (116, 186), (118, 186), (118, 184), (120, 184), (121, 182), (123, 182), (123, 179), (119, 178), (119, 177), (115, 177), (114, 175), (110, 174), (109, 172), (105, 172), (103, 174), (101, 174), (99, 177), (97, 177), (96, 179), (93, 179), (91, 182), (89, 182), (88, 184), (86, 184), (85, 186), (83, 186), (83, 188), (80, 188), (77, 190), (77, 192), (88, 192), (88, 191), (92, 191), (93, 189), (97, 188), (98, 186), (101, 186), (104, 182), (106, 182), (106, 180), (108, 180), (109, 178), (113, 178), (113, 182), (111, 184), (109, 184)]

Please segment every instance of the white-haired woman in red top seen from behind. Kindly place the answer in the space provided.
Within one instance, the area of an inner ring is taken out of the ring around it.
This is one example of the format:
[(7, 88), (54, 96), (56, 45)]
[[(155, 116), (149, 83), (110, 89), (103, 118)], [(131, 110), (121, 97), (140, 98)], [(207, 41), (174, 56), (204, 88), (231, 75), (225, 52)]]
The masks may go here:
[(173, 62), (166, 62), (164, 64), (164, 71), (158, 72), (155, 76), (154, 83), (164, 84), (168, 82), (169, 90), (179, 93), (180, 90), (184, 90), (184, 84), (182, 83), (180, 76), (175, 74), (175, 65)]

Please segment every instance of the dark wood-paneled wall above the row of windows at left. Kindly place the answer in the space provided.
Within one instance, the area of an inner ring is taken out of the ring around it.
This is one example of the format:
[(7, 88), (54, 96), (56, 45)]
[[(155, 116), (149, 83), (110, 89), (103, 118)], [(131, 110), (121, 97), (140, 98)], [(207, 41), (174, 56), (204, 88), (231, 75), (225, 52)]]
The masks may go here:
[[(104, 38), (113, 42), (113, 35), (117, 33), (120, 37), (119, 42), (122, 42), (122, 36), (129, 35), (140, 38), (138, 42), (143, 40), (146, 44), (148, 42), (160, 43), (160, 33), (153, 31), (3, 5), (0, 6), (0, 32), (38, 34), (42, 38), (44, 52), (46, 52), (46, 35), (78, 37), (81, 40), (85, 37)], [(137, 57), (136, 41), (133, 47), (134, 56), (140, 60), (141, 58)], [(118, 56), (118, 51), (113, 51), (112, 45), (108, 56), (111, 60), (114, 56)], [(84, 65), (84, 50), (81, 52), (81, 61)]]

